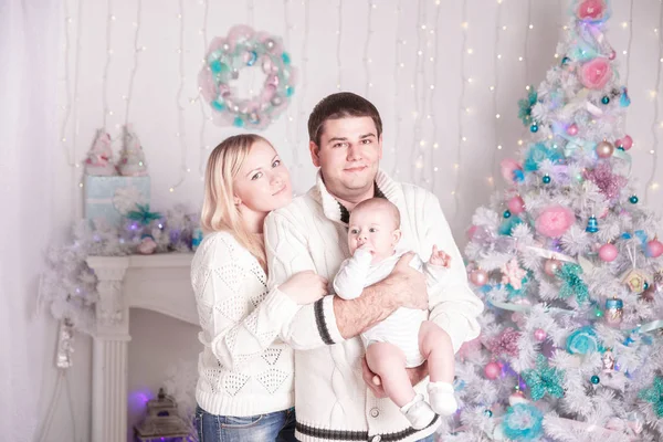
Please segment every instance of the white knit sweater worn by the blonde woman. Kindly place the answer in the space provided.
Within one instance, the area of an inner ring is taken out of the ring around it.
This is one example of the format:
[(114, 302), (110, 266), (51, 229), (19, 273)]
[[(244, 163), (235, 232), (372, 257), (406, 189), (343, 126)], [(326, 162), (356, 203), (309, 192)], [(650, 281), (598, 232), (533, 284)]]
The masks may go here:
[(278, 335), (298, 306), (266, 283), (257, 260), (228, 232), (207, 235), (193, 256), (204, 346), (196, 400), (212, 414), (246, 417), (294, 404), (293, 350)]

